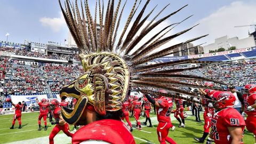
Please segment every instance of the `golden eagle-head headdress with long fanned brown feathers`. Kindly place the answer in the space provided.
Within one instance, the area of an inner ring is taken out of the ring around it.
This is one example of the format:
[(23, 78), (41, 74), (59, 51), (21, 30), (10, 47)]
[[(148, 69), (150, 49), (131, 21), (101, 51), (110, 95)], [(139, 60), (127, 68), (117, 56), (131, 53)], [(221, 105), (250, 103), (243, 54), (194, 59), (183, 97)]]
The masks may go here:
[[(79, 6), (77, 0), (75, 1), (75, 4), (66, 0), (65, 8), (62, 7), (59, 0), (61, 11), (67, 22), (70, 33), (73, 36), (78, 49), (81, 51), (79, 57), (85, 70), (84, 75), (79, 77), (69, 86), (63, 87), (60, 91), (60, 97), (62, 99), (65, 97), (75, 97), (79, 99), (78, 106), (76, 106), (77, 108), (75, 108), (75, 110), (63, 110), (63, 117), (67, 122), (76, 123), (78, 121), (76, 119), (81, 117), (81, 109), (83, 110), (85, 108), (87, 102), (94, 106), (97, 113), (101, 115), (106, 115), (106, 111), (121, 109), (122, 102), (124, 101), (130, 86), (139, 86), (143, 92), (147, 93), (153, 93), (153, 91), (146, 90), (145, 87), (154, 87), (183, 94), (195, 95), (180, 90), (179, 87), (198, 87), (197, 85), (182, 83), (180, 81), (199, 80), (217, 82), (203, 77), (177, 74), (181, 71), (201, 67), (172, 70), (157, 69), (182, 63), (209, 63), (198, 61), (198, 59), (163, 62), (148, 66), (141, 65), (156, 58), (173, 54), (173, 50), (177, 47), (196, 41), (207, 35), (198, 36), (189, 39), (186, 42), (170, 45), (164, 47), (161, 51), (154, 52), (154, 50), (171, 41), (173, 38), (193, 29), (195, 26), (180, 31), (177, 34), (166, 36), (171, 29), (187, 20), (192, 15), (178, 23), (173, 23), (163, 29), (157, 29), (158, 33), (150, 35), (150, 38), (145, 41), (143, 39), (145, 36), (149, 36), (149, 33), (158, 25), (175, 13), (181, 11), (187, 5), (159, 19), (159, 15), (167, 6), (169, 6), (168, 4), (163, 7), (153, 19), (148, 20), (155, 10), (154, 8), (149, 13), (145, 14), (145, 10), (149, 5), (150, 0), (145, 2), (140, 11), (138, 10), (138, 7), (141, 4), (141, 1), (138, 3), (137, 0), (134, 0), (133, 2), (134, 4), (129, 17), (125, 22), (125, 26), (119, 28), (120, 22), (124, 21), (122, 16), (127, 0), (122, 6), (121, 0), (118, 1), (116, 6), (114, 6), (114, 0), (108, 0), (106, 14), (104, 13), (104, 3), (102, 2), (101, 5), (100, 0), (96, 1), (94, 19), (92, 18), (87, 0), (79, 2)], [(99, 14), (97, 12), (98, 7)], [(139, 11), (138, 16), (134, 17), (137, 11)], [(98, 17), (99, 21), (97, 21)], [(133, 22), (131, 22), (132, 20)], [(146, 21), (149, 21), (147, 25)], [(131, 27), (130, 30), (128, 30), (129, 26)], [(143, 29), (140, 31), (142, 27)], [(119, 30), (121, 30), (122, 33), (117, 38)], [(138, 47), (138, 43), (143, 44)], [(162, 94), (166, 97), (174, 97), (174, 95), (170, 96), (170, 94), (159, 92), (157, 94)], [(73, 119), (73, 121), (70, 119)]]

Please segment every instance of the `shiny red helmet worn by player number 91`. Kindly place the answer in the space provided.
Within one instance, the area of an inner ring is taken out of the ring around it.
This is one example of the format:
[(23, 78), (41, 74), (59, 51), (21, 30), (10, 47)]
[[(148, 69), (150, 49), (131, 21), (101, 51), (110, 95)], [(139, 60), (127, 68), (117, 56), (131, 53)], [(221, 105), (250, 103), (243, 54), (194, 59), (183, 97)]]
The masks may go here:
[(216, 91), (213, 93), (213, 100), (217, 101), (214, 102), (214, 106), (220, 109), (234, 106), (236, 101), (236, 97), (231, 92), (224, 92), (224, 91)]

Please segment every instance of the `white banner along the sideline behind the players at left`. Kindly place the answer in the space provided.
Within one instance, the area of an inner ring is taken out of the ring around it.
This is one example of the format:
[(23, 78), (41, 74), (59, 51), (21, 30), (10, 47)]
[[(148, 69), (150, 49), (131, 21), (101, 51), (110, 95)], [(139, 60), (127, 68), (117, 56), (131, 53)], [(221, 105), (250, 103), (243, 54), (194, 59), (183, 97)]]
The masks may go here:
[(36, 98), (41, 101), (41, 99), (47, 99), (47, 95), (11, 95), (11, 98), (14, 104), (25, 101), (27, 107), (31, 107), (32, 103), (36, 103)]

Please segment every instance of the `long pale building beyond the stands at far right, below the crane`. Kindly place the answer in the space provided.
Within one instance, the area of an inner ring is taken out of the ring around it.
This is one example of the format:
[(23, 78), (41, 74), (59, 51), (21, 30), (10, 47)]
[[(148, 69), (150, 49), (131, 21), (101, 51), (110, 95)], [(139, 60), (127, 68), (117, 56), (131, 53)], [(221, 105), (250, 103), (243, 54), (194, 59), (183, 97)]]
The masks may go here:
[(209, 53), (210, 50), (218, 50), (221, 47), (227, 51), (231, 46), (235, 46), (236, 49), (254, 47), (256, 46), (254, 35), (251, 34), (249, 37), (243, 39), (239, 39), (238, 37), (228, 38), (228, 36), (216, 38), (214, 43), (204, 46), (204, 52)]

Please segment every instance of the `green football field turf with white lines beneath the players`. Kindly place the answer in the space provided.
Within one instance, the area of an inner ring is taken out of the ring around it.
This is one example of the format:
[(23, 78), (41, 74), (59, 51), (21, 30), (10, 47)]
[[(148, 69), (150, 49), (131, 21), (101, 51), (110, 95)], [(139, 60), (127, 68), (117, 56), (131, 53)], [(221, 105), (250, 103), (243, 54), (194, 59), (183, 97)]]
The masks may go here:
[[(22, 129), (18, 129), (18, 121), (16, 121), (14, 129), (10, 130), (9, 127), (12, 124), (13, 115), (1, 115), (0, 116), (0, 143), (49, 143), (48, 137), (54, 125), (51, 124), (48, 127), (47, 131), (37, 131), (37, 117), (39, 113), (24, 113), (21, 117)], [(177, 143), (198, 143), (194, 140), (194, 137), (201, 137), (203, 134), (203, 123), (196, 123), (195, 117), (189, 115), (186, 118), (186, 127), (179, 128), (178, 121), (171, 115), (172, 123), (176, 126), (174, 131), (169, 132), (169, 137), (173, 138)], [(203, 119), (203, 117), (201, 116)], [(154, 127), (145, 127), (142, 126), (142, 130), (138, 131), (133, 130), (132, 134), (136, 143), (159, 143), (157, 140), (156, 127), (157, 119), (156, 115), (151, 114), (151, 119)], [(49, 121), (49, 119), (47, 119)], [(133, 127), (135, 127), (134, 118), (130, 118)], [(145, 121), (144, 117), (141, 117), (141, 123)], [(41, 120), (42, 125), (43, 119)], [(142, 123), (143, 125), (143, 123)], [(43, 127), (42, 127), (43, 128)], [(70, 129), (73, 129), (73, 126), (70, 125)], [(244, 134), (244, 143), (254, 143), (254, 138), (252, 133), (245, 131)], [(65, 134), (60, 132), (55, 138), (55, 143), (71, 143), (71, 139), (66, 137)]]

